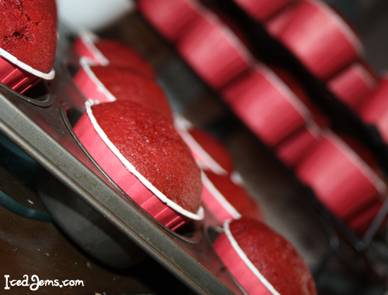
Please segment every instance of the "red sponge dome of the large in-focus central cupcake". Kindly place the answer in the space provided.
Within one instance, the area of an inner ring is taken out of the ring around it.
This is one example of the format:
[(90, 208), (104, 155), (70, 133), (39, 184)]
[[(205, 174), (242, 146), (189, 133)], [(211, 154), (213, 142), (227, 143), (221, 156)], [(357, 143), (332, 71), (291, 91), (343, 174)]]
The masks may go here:
[(193, 213), (200, 207), (200, 169), (164, 116), (133, 102), (92, 107), (97, 123), (123, 157), (174, 203)]

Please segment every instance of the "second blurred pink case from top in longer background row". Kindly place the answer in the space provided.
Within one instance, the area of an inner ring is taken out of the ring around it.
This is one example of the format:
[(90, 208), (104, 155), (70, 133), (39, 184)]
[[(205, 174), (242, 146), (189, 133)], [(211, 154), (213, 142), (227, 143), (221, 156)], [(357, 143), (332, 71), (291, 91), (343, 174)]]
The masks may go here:
[(217, 16), (206, 13), (176, 44), (179, 54), (214, 90), (253, 64), (243, 42)]

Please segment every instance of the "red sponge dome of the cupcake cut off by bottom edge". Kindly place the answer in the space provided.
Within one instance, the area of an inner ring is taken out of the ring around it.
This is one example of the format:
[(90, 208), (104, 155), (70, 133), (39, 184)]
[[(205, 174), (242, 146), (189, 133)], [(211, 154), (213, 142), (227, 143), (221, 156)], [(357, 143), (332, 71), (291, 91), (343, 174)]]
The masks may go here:
[(262, 222), (241, 218), (231, 234), (257, 270), (282, 295), (317, 294), (307, 265), (295, 248)]

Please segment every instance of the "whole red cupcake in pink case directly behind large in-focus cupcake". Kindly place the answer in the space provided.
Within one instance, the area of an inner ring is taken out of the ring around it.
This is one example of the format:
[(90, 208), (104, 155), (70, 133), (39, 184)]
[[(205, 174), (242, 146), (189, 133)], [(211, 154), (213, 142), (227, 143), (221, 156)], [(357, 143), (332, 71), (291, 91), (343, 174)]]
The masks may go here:
[(80, 64), (81, 68), (73, 80), (88, 99), (98, 102), (115, 100), (136, 102), (173, 121), (169, 100), (154, 80), (129, 68), (90, 66), (85, 59), (81, 59)]

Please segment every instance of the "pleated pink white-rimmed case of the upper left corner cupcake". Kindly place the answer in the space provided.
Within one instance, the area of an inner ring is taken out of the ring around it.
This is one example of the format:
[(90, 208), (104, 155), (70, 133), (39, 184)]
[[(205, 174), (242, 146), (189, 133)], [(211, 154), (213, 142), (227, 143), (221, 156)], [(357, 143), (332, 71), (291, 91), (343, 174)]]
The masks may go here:
[(42, 73), (0, 48), (0, 82), (9, 88), (23, 93), (40, 80), (52, 80), (54, 76), (54, 69)]

